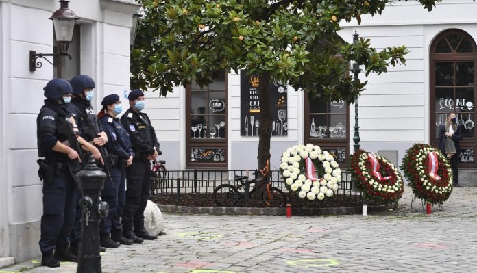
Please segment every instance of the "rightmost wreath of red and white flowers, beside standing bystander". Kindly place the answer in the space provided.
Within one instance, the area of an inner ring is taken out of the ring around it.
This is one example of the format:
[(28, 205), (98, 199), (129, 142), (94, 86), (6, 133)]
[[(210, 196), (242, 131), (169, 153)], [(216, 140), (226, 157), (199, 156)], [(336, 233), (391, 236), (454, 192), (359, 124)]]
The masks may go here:
[(417, 143), (406, 151), (401, 169), (418, 198), (442, 204), (452, 192), (452, 171), (439, 149)]

